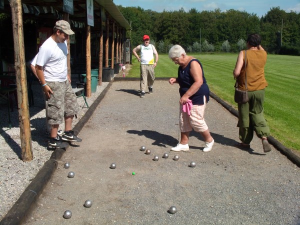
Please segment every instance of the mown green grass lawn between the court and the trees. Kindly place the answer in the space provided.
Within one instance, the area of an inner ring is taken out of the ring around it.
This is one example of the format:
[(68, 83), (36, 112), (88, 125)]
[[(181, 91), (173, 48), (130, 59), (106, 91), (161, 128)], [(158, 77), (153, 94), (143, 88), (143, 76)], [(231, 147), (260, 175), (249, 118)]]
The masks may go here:
[[(233, 100), (233, 68), (237, 54), (190, 54), (198, 58), (210, 90), (237, 108)], [(178, 65), (159, 54), (155, 77), (177, 76)], [(139, 77), (139, 63), (132, 57), (128, 77)], [(271, 135), (288, 148), (300, 150), (300, 56), (267, 55), (264, 114)]]

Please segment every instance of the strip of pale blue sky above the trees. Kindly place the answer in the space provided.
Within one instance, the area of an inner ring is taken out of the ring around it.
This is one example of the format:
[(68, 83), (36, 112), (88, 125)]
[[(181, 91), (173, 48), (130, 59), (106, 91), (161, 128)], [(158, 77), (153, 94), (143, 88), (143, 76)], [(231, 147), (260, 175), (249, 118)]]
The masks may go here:
[(221, 11), (235, 9), (256, 13), (257, 16), (263, 16), (272, 7), (279, 6), (280, 9), (290, 12), (290, 10), (300, 12), (300, 0), (113, 0), (116, 5), (122, 6), (140, 6), (143, 9), (151, 9), (161, 12), (179, 10), (181, 7), (188, 11), (190, 8), (196, 8), (198, 11), (214, 10), (219, 8)]

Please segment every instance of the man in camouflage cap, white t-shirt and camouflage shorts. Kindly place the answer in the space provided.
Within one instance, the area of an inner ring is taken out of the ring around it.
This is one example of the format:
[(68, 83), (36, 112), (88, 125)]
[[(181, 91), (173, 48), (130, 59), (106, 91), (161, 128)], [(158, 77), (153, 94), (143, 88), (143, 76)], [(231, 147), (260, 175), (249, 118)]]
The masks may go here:
[[(56, 21), (52, 35), (40, 46), (35, 70), (48, 101), (47, 119), (51, 126), (48, 146), (66, 147), (66, 141), (81, 141), (72, 131), (72, 120), (77, 114), (78, 103), (67, 74), (66, 39), (74, 34), (65, 20)], [(64, 120), (64, 132), (57, 134), (59, 124)]]

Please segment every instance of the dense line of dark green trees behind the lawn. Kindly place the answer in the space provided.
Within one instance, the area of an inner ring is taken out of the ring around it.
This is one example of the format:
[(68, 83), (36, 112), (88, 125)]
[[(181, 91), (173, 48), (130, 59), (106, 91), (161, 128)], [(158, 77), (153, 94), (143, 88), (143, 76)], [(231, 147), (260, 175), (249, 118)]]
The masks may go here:
[(194, 52), (236, 52), (244, 48), (249, 33), (258, 33), (268, 52), (300, 55), (300, 13), (285, 12), (280, 7), (270, 8), (261, 18), (234, 9), (156, 12), (141, 7), (118, 8), (131, 23), (133, 46), (141, 43), (143, 34), (148, 34), (159, 52), (167, 52), (173, 44)]

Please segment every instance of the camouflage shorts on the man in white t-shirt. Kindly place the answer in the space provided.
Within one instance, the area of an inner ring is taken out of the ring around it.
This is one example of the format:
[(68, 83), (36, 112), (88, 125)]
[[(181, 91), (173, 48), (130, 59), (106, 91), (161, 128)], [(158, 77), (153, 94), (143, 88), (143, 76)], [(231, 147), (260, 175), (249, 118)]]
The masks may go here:
[(63, 82), (47, 81), (53, 91), (48, 99), (47, 118), (49, 124), (60, 124), (65, 116), (78, 113), (77, 97), (68, 80)]

